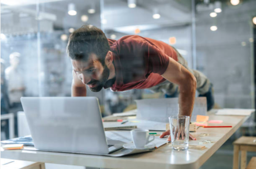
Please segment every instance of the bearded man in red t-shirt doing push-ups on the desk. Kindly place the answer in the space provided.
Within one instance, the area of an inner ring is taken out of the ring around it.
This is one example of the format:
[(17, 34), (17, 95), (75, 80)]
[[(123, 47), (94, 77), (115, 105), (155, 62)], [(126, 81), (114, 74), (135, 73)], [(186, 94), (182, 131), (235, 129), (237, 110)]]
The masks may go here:
[[(97, 27), (84, 25), (71, 34), (67, 54), (73, 66), (72, 96), (86, 96), (85, 85), (94, 92), (103, 87), (113, 91), (149, 88), (172, 96), (178, 85), (179, 115), (186, 116), (192, 114), (196, 88), (200, 95), (213, 98), (210, 81), (188, 69), (182, 56), (164, 42), (137, 35), (110, 40)], [(213, 106), (211, 101), (208, 108)], [(169, 134), (170, 130), (160, 137)]]

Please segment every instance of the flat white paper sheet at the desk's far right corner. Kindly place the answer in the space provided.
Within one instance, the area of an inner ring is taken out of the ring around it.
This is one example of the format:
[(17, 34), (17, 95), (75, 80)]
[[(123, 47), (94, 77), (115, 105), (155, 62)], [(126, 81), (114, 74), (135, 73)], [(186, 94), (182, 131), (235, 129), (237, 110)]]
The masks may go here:
[(224, 108), (219, 109), (215, 115), (250, 116), (253, 112), (255, 112), (255, 109)]

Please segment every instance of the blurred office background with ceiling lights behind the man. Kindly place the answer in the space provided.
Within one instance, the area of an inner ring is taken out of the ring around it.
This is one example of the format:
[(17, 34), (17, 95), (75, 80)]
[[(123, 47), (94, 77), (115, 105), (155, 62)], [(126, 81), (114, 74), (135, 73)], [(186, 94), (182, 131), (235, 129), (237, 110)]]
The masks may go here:
[[(166, 42), (213, 83), (214, 108), (255, 108), (256, 0), (1, 0), (0, 5), (1, 140), (29, 134), (21, 96), (71, 96), (66, 45), (83, 24), (101, 28), (109, 39), (136, 34)], [(147, 89), (87, 94), (99, 98), (103, 116), (136, 108), (135, 99), (163, 97)], [(254, 129), (252, 117), (230, 143), (255, 135)], [(227, 147), (223, 152), (232, 148)]]

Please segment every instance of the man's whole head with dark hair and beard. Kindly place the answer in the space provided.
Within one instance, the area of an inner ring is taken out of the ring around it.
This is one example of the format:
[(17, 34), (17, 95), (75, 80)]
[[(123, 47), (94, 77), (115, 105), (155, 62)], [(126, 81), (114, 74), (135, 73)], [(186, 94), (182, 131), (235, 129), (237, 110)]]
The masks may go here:
[(91, 91), (100, 91), (109, 77), (112, 53), (103, 31), (92, 25), (84, 25), (74, 31), (67, 44), (67, 54), (78, 78)]

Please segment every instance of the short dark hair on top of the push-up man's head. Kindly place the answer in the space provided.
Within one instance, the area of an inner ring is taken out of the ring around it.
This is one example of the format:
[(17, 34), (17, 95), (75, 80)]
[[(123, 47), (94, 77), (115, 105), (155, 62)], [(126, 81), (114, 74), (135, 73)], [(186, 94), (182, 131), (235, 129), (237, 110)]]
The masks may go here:
[(83, 25), (74, 31), (67, 43), (67, 55), (72, 60), (87, 60), (89, 54), (97, 55), (99, 61), (105, 65), (105, 57), (110, 50), (104, 32), (90, 24)]

